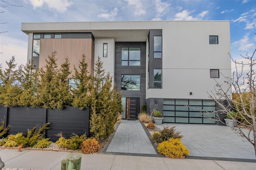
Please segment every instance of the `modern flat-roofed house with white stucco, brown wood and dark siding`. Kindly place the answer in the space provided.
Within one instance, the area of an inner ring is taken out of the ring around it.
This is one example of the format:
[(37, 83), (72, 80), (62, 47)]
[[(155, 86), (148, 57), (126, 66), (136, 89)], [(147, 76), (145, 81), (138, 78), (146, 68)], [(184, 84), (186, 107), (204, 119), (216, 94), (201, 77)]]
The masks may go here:
[(136, 119), (146, 105), (166, 123), (216, 123), (200, 109), (215, 111), (207, 92), (231, 76), (229, 21), (22, 23), (21, 29), (36, 68), (57, 51), (59, 65), (67, 56), (78, 65), (85, 54), (93, 74), (99, 56), (122, 90), (124, 119)]

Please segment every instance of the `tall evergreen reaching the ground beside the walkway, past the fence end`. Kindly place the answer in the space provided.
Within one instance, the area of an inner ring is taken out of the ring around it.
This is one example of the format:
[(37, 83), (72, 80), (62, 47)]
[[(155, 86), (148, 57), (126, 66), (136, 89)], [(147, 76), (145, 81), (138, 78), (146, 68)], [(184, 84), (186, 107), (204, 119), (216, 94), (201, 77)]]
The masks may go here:
[[(102, 61), (98, 57), (94, 69), (94, 88), (91, 90), (91, 117), (90, 132), (97, 140), (108, 137), (114, 132), (117, 117), (122, 111), (121, 94), (112, 89), (112, 77), (108, 73), (102, 84), (105, 74)], [(112, 89), (112, 90), (111, 90)]]

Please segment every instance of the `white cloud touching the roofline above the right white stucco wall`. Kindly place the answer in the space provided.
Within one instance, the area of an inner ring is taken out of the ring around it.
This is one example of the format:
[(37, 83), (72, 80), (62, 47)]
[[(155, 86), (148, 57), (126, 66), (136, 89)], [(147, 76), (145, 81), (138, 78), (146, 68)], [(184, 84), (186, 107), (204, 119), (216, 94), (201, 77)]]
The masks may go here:
[(174, 20), (202, 20), (202, 18), (209, 13), (209, 11), (203, 11), (194, 18), (190, 15), (193, 12), (195, 12), (195, 10), (183, 10), (182, 12), (175, 14)]

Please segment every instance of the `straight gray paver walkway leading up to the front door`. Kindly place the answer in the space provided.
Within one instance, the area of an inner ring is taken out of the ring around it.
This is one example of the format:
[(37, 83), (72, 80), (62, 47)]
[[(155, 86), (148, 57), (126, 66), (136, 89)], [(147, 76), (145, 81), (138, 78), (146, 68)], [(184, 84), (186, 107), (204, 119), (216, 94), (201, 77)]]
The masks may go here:
[(106, 152), (157, 154), (138, 120), (122, 120)]

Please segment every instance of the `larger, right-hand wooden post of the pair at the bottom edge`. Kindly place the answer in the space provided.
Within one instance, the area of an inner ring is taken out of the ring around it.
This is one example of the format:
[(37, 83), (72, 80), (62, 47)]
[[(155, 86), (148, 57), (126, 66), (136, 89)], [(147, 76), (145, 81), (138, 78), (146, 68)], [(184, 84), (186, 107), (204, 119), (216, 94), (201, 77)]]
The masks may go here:
[(80, 170), (82, 155), (80, 153), (71, 153), (67, 156), (66, 170)]

